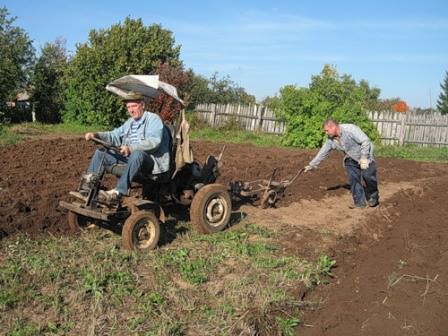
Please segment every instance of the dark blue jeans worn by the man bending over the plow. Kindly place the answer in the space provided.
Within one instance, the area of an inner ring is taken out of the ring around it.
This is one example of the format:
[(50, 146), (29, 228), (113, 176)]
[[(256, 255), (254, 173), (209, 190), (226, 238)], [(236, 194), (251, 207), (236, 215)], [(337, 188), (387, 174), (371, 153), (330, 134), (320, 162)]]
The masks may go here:
[[(355, 205), (365, 205), (366, 199), (379, 201), (375, 161), (370, 162), (369, 168), (366, 170), (362, 170), (359, 163), (350, 158), (346, 159), (344, 164)], [(363, 186), (361, 179), (365, 186)]]

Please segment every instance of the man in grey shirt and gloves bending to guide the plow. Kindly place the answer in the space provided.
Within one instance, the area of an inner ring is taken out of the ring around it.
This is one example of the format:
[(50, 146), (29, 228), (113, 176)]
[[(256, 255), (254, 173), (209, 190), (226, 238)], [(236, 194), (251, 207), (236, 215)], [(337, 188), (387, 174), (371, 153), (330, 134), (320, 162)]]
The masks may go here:
[[(323, 127), (328, 139), (314, 159), (305, 167), (305, 172), (316, 169), (333, 149), (344, 152), (344, 167), (354, 203), (350, 208), (362, 209), (367, 204), (370, 207), (377, 206), (379, 192), (376, 163), (373, 157), (373, 144), (368, 136), (356, 125), (339, 124), (333, 119), (327, 119)], [(364, 180), (365, 187), (361, 179)]]

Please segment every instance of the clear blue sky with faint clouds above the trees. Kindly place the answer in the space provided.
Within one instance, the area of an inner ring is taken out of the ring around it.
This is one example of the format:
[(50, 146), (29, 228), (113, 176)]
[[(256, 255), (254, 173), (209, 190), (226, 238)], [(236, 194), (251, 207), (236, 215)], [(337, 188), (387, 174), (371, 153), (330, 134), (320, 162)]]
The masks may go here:
[(0, 0), (37, 50), (67, 49), (126, 16), (160, 23), (195, 73), (230, 78), (261, 100), (307, 86), (324, 64), (367, 80), (381, 98), (435, 107), (448, 71), (448, 1), (30, 1)]

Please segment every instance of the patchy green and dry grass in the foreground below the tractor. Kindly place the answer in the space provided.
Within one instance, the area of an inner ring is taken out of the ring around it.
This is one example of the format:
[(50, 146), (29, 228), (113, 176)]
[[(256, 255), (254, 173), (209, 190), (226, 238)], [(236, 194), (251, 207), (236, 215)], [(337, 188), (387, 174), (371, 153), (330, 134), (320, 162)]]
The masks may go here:
[(324, 283), (334, 265), (328, 257), (285, 255), (276, 234), (257, 225), (186, 232), (140, 254), (122, 251), (107, 230), (4, 238), (0, 328), (11, 335), (233, 335), (266, 314), (269, 330), (292, 335), (302, 314), (294, 289)]

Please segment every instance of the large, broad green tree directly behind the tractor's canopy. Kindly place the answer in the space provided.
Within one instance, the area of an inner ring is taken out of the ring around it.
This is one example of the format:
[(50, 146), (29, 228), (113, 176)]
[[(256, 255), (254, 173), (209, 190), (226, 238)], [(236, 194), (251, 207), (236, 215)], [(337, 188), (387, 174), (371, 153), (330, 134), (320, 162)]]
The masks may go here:
[(106, 85), (129, 74), (155, 74), (167, 63), (178, 67), (180, 46), (158, 24), (144, 26), (127, 17), (109, 29), (91, 30), (89, 41), (77, 45), (65, 73), (64, 120), (116, 126), (127, 118), (120, 100)]

